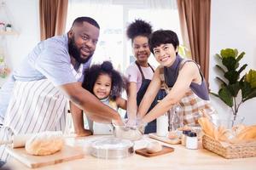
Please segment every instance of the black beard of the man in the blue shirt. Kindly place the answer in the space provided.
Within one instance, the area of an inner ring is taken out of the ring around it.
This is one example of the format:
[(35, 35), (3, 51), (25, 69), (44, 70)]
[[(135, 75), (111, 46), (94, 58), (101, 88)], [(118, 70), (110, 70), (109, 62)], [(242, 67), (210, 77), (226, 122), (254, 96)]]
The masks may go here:
[(74, 37), (71, 37), (68, 39), (68, 53), (71, 56), (73, 56), (73, 58), (76, 59), (76, 61), (79, 63), (86, 63), (93, 55), (93, 53), (92, 53), (86, 59), (83, 59), (81, 57), (81, 52), (80, 52), (79, 48), (75, 44)]

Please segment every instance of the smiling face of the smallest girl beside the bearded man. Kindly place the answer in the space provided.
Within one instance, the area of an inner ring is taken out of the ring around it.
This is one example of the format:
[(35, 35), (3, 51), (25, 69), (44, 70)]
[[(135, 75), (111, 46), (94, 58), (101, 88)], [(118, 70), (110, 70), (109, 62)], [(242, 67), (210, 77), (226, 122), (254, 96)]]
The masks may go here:
[(111, 77), (107, 74), (99, 75), (93, 87), (93, 94), (95, 94), (98, 99), (105, 99), (109, 96), (111, 87)]

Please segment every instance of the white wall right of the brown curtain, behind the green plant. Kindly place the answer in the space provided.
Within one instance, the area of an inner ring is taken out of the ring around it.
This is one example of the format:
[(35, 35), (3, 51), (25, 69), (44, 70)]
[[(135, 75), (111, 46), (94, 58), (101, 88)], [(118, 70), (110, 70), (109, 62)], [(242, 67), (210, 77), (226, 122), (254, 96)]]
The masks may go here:
[[(237, 48), (246, 54), (241, 65), (247, 63), (247, 70), (256, 70), (256, 1), (254, 0), (212, 0), (211, 44), (210, 44), (210, 88), (218, 92), (214, 81), (216, 65), (214, 54), (222, 48)], [(220, 114), (228, 112), (228, 107), (212, 97), (213, 105)], [(256, 99), (247, 100), (241, 105), (239, 115), (245, 116), (245, 123), (256, 124)]]

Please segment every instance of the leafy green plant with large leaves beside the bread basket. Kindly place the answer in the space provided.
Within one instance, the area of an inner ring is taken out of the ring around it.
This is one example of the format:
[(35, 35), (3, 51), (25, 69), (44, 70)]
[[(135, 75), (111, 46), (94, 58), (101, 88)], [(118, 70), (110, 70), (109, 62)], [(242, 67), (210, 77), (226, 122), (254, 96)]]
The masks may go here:
[(244, 52), (238, 54), (237, 49), (232, 48), (222, 49), (220, 54), (216, 54), (218, 60), (221, 61), (220, 65), (216, 65), (222, 73), (220, 77), (216, 77), (220, 82), (220, 88), (218, 94), (212, 92), (210, 94), (230, 106), (233, 121), (236, 121), (240, 105), (248, 99), (256, 97), (256, 71), (250, 70), (241, 76), (241, 72), (247, 67), (247, 64), (240, 67), (239, 63), (244, 54)]

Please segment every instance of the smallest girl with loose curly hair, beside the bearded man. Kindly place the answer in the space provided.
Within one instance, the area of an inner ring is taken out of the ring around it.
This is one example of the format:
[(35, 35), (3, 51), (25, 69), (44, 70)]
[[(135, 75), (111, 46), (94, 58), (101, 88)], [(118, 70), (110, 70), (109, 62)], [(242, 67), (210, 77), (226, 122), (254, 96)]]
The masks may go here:
[[(109, 61), (104, 61), (102, 65), (91, 65), (90, 69), (84, 72), (82, 87), (115, 111), (119, 108), (126, 110), (126, 100), (120, 97), (125, 89), (125, 81)], [(90, 118), (88, 123), (93, 134), (113, 133), (113, 127), (109, 123), (93, 122)]]

